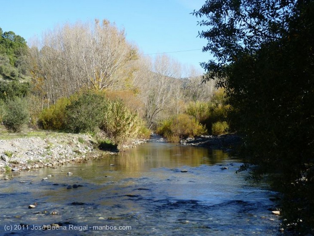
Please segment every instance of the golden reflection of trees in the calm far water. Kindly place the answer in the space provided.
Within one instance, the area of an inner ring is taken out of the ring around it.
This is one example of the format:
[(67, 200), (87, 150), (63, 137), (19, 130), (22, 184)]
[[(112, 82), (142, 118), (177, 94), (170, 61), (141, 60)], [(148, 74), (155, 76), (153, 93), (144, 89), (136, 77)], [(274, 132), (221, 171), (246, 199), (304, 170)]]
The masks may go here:
[(102, 162), (114, 162), (115, 170), (132, 173), (145, 172), (149, 168), (175, 168), (180, 166), (214, 165), (222, 162), (228, 154), (222, 150), (196, 148), (172, 144), (145, 144), (136, 148), (122, 151), (112, 158), (105, 158)]

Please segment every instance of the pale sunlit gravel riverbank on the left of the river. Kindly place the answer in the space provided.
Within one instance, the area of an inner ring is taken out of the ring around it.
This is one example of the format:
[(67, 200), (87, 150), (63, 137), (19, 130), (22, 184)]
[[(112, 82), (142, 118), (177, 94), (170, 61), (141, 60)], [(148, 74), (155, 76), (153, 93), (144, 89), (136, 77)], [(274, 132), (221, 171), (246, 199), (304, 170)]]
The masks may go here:
[[(132, 147), (145, 140), (134, 140)], [(100, 151), (88, 134), (29, 131), (14, 134), (0, 131), (0, 172), (55, 167), (69, 162), (84, 162), (118, 151)]]

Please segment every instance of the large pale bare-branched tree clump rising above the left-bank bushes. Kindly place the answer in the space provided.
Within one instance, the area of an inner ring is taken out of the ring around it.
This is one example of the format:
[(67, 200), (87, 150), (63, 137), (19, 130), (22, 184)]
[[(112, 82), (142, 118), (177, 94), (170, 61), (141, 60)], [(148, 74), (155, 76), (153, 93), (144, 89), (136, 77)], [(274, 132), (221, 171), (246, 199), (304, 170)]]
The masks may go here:
[(31, 50), (32, 74), (48, 102), (82, 87), (122, 89), (136, 70), (137, 48), (107, 20), (63, 25), (44, 34), (41, 44)]

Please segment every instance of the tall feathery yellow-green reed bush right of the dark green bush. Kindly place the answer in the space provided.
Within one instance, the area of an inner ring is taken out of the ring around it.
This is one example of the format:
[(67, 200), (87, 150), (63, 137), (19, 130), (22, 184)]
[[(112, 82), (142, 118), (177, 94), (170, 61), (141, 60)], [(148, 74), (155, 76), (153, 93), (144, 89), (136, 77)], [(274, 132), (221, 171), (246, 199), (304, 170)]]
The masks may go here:
[(138, 137), (142, 121), (131, 112), (121, 99), (109, 101), (103, 113), (100, 129), (116, 145), (122, 145)]

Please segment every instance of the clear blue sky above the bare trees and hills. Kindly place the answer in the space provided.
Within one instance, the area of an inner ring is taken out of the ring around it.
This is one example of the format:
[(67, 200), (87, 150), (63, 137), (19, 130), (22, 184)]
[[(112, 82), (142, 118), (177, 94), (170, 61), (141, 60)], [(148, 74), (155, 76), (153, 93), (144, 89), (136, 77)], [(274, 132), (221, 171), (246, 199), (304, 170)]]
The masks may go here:
[[(203, 73), (199, 63), (208, 61), (211, 55), (199, 50), (206, 40), (197, 37), (202, 28), (197, 25), (198, 19), (189, 14), (203, 3), (205, 0), (1, 1), (0, 27), (30, 41), (63, 23), (108, 19), (124, 28), (127, 40), (143, 54), (176, 52), (168, 55)], [(193, 51), (177, 52), (186, 50)]]

